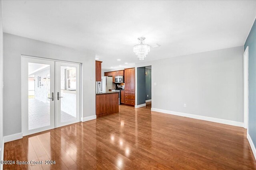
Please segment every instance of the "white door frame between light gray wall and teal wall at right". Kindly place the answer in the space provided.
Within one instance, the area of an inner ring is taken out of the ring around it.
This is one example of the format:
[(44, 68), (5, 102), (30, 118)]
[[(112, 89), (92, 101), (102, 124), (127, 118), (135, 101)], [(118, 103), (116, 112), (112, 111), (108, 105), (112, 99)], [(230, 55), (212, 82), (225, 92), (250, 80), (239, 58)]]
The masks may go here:
[(249, 113), (249, 88), (248, 88), (248, 64), (249, 64), (249, 47), (244, 51), (244, 128), (248, 129), (248, 113)]

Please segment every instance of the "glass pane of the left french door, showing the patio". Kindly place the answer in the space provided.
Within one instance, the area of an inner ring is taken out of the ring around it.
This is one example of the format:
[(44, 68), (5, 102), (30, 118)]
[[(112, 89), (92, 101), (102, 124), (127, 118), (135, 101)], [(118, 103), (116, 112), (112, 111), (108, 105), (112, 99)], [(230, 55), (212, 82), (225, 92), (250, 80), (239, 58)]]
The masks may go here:
[(49, 64), (28, 63), (28, 130), (50, 126), (48, 74)]

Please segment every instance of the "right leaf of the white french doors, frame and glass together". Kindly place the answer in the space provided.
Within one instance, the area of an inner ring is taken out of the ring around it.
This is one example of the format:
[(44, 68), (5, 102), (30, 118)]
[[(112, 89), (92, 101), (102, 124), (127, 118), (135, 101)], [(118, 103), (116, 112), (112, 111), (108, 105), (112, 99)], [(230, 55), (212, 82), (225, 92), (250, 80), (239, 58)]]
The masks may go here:
[(56, 62), (57, 127), (80, 121), (80, 65)]

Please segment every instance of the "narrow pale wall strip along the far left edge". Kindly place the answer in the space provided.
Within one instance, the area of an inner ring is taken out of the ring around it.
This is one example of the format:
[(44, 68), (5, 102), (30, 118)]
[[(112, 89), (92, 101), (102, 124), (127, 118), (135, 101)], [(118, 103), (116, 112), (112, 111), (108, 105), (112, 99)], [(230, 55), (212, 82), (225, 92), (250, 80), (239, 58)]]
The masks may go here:
[(3, 18), (2, 0), (0, 0), (0, 160), (2, 160), (3, 144)]

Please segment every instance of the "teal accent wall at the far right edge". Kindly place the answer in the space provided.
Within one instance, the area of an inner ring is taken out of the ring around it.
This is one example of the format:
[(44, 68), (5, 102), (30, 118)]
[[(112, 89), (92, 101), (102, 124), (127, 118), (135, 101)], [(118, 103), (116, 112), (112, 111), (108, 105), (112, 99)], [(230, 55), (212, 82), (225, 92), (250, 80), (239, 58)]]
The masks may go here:
[(248, 133), (256, 147), (256, 22), (244, 44), (249, 47), (249, 124)]

